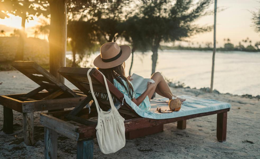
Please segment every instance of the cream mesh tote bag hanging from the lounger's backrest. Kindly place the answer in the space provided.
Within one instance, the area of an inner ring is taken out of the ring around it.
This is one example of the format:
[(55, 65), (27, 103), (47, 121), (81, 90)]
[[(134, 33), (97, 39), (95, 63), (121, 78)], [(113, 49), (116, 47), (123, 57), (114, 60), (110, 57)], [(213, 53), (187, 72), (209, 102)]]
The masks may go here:
[[(90, 90), (91, 92), (94, 92), (92, 81), (89, 75), (89, 72), (92, 69), (93, 68), (88, 70), (87, 76), (89, 80)], [(104, 75), (103, 78), (106, 84), (111, 110), (107, 112), (102, 111), (102, 109), (98, 105), (95, 94), (94, 93), (91, 94), (95, 101), (95, 105), (97, 107), (97, 112), (98, 112), (98, 124), (96, 127), (98, 145), (101, 152), (103, 152), (104, 154), (108, 154), (108, 153), (117, 152), (118, 150), (120, 150), (125, 146), (125, 124), (124, 124), (125, 119), (119, 114), (116, 107), (114, 106), (111, 94), (108, 90), (107, 80)]]

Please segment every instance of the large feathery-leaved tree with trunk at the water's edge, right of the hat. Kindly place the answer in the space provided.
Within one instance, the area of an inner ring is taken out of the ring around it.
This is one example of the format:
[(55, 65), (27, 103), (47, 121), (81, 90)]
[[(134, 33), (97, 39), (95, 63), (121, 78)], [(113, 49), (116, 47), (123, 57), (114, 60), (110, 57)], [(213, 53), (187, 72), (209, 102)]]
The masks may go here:
[[(174, 3), (176, 2), (176, 3)], [(152, 54), (152, 74), (155, 72), (158, 48), (161, 42), (174, 42), (185, 37), (210, 31), (212, 26), (198, 26), (193, 22), (206, 15), (211, 0), (149, 1), (140, 7), (137, 15), (140, 28)]]

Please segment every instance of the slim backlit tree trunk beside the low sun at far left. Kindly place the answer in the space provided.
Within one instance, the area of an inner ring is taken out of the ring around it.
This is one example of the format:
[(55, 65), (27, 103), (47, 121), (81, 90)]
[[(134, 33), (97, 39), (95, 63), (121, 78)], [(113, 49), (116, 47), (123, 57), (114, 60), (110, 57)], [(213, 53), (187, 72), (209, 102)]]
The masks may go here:
[(26, 20), (26, 15), (22, 16), (22, 24), (21, 24), (22, 29), (19, 31), (20, 38), (19, 38), (19, 43), (17, 46), (17, 52), (15, 55), (16, 61), (24, 60), (25, 20)]

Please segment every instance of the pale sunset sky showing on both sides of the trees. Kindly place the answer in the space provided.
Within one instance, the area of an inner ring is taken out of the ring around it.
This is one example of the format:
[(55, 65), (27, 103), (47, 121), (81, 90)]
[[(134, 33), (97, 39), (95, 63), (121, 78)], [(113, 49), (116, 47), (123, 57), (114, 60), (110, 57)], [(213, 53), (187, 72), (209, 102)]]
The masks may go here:
[[(231, 43), (237, 45), (242, 39), (247, 37), (252, 40), (252, 44), (260, 41), (260, 34), (254, 31), (252, 27), (252, 11), (260, 9), (260, 2), (257, 0), (218, 0), (217, 6), (220, 8), (226, 8), (224, 11), (217, 13), (217, 29), (216, 40), (217, 47), (223, 47), (223, 39), (229, 38)], [(214, 9), (212, 4), (209, 9)], [(10, 15), (10, 18), (0, 19), (0, 30), (6, 31), (6, 36), (9, 36), (13, 29), (21, 28), (21, 18)], [(39, 24), (39, 18), (35, 17), (34, 20), (26, 21), (25, 28), (28, 37), (34, 37), (34, 27)], [(201, 17), (195, 24), (199, 25), (213, 25), (214, 16), (209, 15)], [(43, 36), (39, 37), (43, 38)], [(187, 38), (190, 42), (194, 43), (194, 46), (199, 44), (203, 47), (205, 43), (213, 43), (213, 31), (207, 33), (197, 34), (194, 37)], [(186, 42), (175, 42), (174, 45), (179, 44), (188, 45)], [(170, 44), (172, 45), (172, 44)], [(248, 44), (247, 44), (248, 45)]]

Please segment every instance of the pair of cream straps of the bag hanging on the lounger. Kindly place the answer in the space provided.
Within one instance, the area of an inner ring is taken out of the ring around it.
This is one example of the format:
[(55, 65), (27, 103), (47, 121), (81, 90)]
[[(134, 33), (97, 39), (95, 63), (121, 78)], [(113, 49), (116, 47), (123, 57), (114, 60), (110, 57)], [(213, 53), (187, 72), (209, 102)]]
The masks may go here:
[[(88, 76), (90, 91), (91, 91), (92, 97), (93, 97), (93, 99), (94, 99), (94, 101), (95, 101), (95, 105), (96, 105), (96, 107), (97, 107), (97, 112), (98, 112), (98, 114), (99, 114), (99, 113), (100, 113), (100, 110), (102, 111), (102, 109), (99, 107), (99, 104), (98, 104), (98, 102), (97, 102), (97, 98), (96, 98), (96, 96), (95, 96), (95, 94), (94, 94), (94, 90), (93, 90), (93, 86), (92, 86), (92, 80), (91, 80), (91, 77), (90, 77), (90, 75), (89, 75), (89, 73), (90, 73), (90, 71), (91, 71), (92, 69), (94, 69), (94, 68), (90, 68), (90, 69), (88, 70), (87, 76)], [(100, 72), (100, 71), (99, 71), (99, 72)], [(102, 74), (102, 72), (100, 72), (100, 73)], [(116, 110), (116, 107), (115, 107), (115, 105), (114, 105), (114, 103), (113, 103), (113, 100), (112, 100), (112, 96), (111, 96), (110, 91), (109, 91), (109, 89), (108, 89), (106, 77), (105, 77), (103, 74), (102, 74), (102, 76), (103, 76), (103, 78), (104, 78), (104, 82), (105, 82), (105, 85), (106, 85), (106, 90), (107, 90), (107, 94), (108, 94), (110, 106), (111, 106), (112, 109)]]

